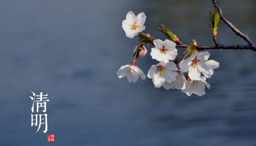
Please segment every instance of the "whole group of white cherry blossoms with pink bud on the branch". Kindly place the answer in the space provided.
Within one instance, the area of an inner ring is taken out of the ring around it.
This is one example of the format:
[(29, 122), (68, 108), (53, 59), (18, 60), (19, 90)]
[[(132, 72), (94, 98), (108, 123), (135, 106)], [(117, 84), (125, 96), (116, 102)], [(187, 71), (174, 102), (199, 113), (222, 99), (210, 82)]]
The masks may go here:
[[(140, 44), (133, 50), (132, 63), (120, 67), (116, 72), (118, 78), (127, 77), (129, 82), (134, 83), (139, 77), (145, 80), (146, 75), (135, 64), (138, 57), (144, 57), (147, 54), (147, 49), (143, 43), (152, 44), (154, 47), (151, 48), (150, 56), (152, 59), (157, 60), (158, 63), (151, 66), (147, 77), (152, 79), (155, 88), (163, 86), (167, 90), (179, 89), (188, 96), (193, 93), (198, 96), (204, 95), (205, 86), (210, 89), (210, 84), (206, 82), (206, 78), (210, 78), (213, 75), (213, 70), (219, 67), (219, 63), (214, 60), (208, 60), (210, 57), (209, 52), (199, 52), (195, 41), (175, 60), (178, 55), (175, 48), (176, 43), (167, 39), (164, 41), (160, 39), (154, 40), (150, 34), (144, 34), (142, 31), (145, 30), (145, 20), (146, 16), (144, 13), (135, 16), (130, 11), (126, 15), (126, 20), (122, 21), (122, 28), (126, 36), (133, 38), (139, 35)], [(166, 28), (166, 30), (168, 31), (169, 29)], [(173, 37), (176, 37), (176, 35), (173, 34)], [(172, 40), (177, 40), (177, 38)], [(187, 57), (189, 54), (191, 56)], [(185, 56), (179, 63), (179, 59), (183, 55)], [(186, 77), (184, 73), (188, 73)]]

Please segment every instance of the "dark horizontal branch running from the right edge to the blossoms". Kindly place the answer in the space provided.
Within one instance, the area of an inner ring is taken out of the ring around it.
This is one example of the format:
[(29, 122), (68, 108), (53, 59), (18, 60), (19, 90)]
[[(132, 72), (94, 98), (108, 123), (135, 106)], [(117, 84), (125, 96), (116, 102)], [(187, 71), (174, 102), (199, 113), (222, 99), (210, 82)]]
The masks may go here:
[[(187, 48), (188, 45), (176, 45), (176, 47)], [(233, 49), (233, 50), (252, 50), (256, 51), (256, 45), (218, 45), (218, 46), (204, 46), (204, 45), (197, 45), (197, 50), (205, 50), (205, 49)]]

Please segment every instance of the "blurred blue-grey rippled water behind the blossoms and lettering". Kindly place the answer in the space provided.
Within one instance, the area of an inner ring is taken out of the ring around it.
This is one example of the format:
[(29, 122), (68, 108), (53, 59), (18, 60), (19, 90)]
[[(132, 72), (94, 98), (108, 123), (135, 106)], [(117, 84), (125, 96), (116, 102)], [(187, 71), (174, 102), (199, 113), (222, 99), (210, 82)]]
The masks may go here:
[[(256, 1), (218, 3), (255, 43)], [(166, 39), (163, 23), (184, 43), (214, 45), (208, 10), (211, 0), (1, 0), (0, 145), (256, 145), (256, 52), (208, 50), (220, 67), (202, 97), (116, 76), (138, 44), (121, 27), (128, 11), (145, 12), (154, 38)], [(222, 21), (218, 41), (246, 44)], [(145, 74), (151, 47), (137, 61)], [(31, 91), (49, 95), (45, 134), (31, 127)]]

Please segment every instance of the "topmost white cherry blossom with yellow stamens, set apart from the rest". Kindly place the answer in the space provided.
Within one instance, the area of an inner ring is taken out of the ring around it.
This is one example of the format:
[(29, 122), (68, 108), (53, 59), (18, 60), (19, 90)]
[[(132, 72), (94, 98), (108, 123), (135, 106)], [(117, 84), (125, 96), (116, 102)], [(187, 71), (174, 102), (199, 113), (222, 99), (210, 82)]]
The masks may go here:
[(144, 12), (135, 16), (135, 14), (130, 11), (126, 15), (126, 20), (122, 21), (122, 28), (125, 31), (125, 34), (129, 38), (133, 38), (138, 35), (139, 32), (145, 30), (144, 23), (146, 21), (146, 16)]

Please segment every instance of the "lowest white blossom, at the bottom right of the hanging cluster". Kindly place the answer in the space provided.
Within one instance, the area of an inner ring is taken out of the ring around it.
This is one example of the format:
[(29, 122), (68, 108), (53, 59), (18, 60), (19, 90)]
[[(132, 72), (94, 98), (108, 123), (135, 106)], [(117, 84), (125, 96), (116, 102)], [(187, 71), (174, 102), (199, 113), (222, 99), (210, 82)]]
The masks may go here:
[(210, 89), (210, 84), (208, 84), (205, 80), (205, 77), (199, 77), (200, 80), (190, 80), (186, 84), (186, 94), (188, 96), (195, 93), (198, 96), (202, 96), (205, 94), (205, 86)]

